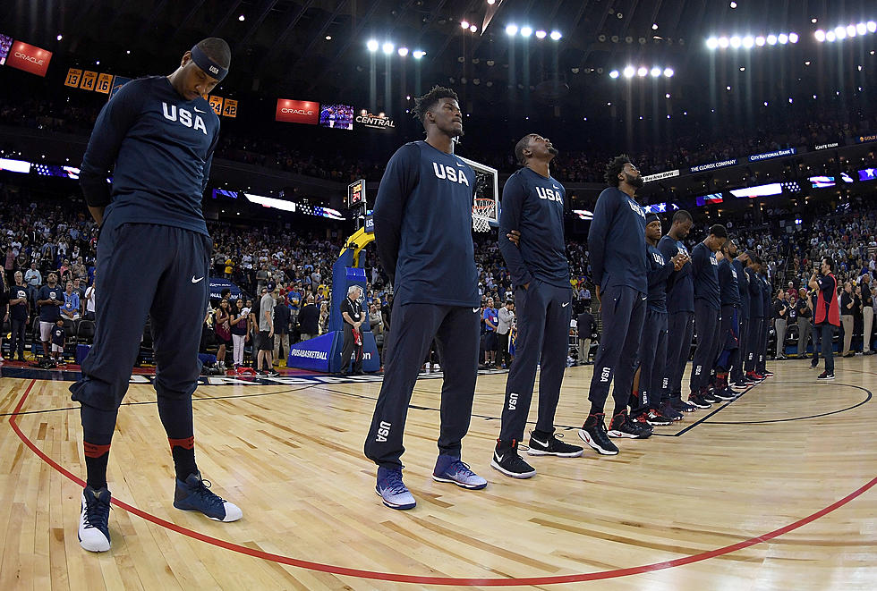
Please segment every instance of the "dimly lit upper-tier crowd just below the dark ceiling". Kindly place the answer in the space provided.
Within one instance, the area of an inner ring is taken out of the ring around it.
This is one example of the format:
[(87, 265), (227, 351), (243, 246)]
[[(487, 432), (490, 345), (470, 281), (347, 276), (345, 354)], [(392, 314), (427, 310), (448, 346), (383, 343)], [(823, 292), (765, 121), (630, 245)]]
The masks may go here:
[[(4, 125), (89, 134), (97, 114), (98, 106), (71, 101), (69, 97), (0, 98), (0, 124)], [(690, 121), (687, 117), (679, 119), (682, 121), (677, 123), (678, 129), (673, 129), (672, 140), (639, 139), (637, 146), (643, 148), (631, 150), (630, 156), (641, 170), (659, 173), (684, 169), (780, 148), (843, 141), (847, 136), (856, 137), (877, 130), (877, 117), (873, 113), (844, 106), (820, 106), (818, 109), (801, 107), (796, 110), (795, 116), (765, 115), (747, 124), (749, 131), (745, 134), (738, 132), (738, 122), (734, 118), (717, 117), (710, 121), (695, 121), (694, 117)], [(619, 132), (621, 136), (624, 135), (622, 131)], [(234, 129), (225, 129), (220, 136), (216, 156), (346, 183), (361, 178), (379, 181), (392, 151), (369, 155), (363, 150), (349, 151), (350, 145), (342, 145), (348, 149), (348, 152), (344, 152), (336, 141), (309, 142), (308, 148), (302, 148), (291, 145), (279, 133), (242, 135), (235, 133)], [(552, 165), (554, 176), (563, 182), (602, 182), (607, 150), (618, 151), (624, 147), (607, 147), (602, 134), (591, 134), (577, 141), (581, 143), (564, 145), (563, 139), (558, 140), (561, 153)], [(511, 149), (497, 152), (492, 146), (479, 146), (474, 138), (464, 139), (458, 151), (503, 173), (512, 173), (517, 168)], [(800, 176), (798, 173), (803, 171), (796, 171), (793, 166), (798, 165), (789, 165), (784, 176)], [(852, 172), (852, 169), (847, 172)]]

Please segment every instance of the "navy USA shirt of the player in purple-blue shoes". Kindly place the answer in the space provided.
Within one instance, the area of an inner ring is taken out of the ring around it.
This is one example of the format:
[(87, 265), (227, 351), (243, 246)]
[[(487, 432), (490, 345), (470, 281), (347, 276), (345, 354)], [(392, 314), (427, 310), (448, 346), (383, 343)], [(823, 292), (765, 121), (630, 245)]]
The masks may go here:
[(387, 163), (375, 198), (378, 257), (400, 304), (481, 307), (472, 241), (475, 172), (413, 141)]

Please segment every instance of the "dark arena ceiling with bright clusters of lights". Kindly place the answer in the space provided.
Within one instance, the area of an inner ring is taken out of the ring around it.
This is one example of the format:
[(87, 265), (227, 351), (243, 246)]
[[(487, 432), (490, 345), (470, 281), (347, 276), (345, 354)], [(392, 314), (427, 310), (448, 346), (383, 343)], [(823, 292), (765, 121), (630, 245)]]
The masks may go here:
[[(805, 72), (806, 47), (814, 46), (815, 51), (814, 30), (862, 20), (877, 20), (873, 3), (10, 0), (0, 5), (0, 32), (47, 47), (71, 65), (101, 60), (115, 73), (165, 72), (194, 41), (218, 36), (233, 49), (226, 94), (254, 92), (352, 104), (376, 99), (381, 106), (387, 89), (387, 102), (398, 105), (397, 100), (414, 94), (418, 86), (425, 89), (438, 82), (462, 89), (467, 101), (488, 101), (509, 110), (527, 108), (531, 102), (595, 108), (605, 94), (602, 89), (624, 81), (610, 79), (609, 72), (627, 64), (671, 67), (677, 92), (696, 97), (703, 80), (717, 69), (737, 70), (737, 61), (743, 59), (741, 52), (716, 55), (707, 50), (704, 42), (710, 35), (796, 31), (800, 41), (794, 51), (792, 46), (764, 46), (745, 56), (747, 63), (771, 64), (752, 76), (770, 84), (789, 83)], [(477, 30), (464, 30), (461, 21)], [(506, 27), (511, 23), (558, 30), (562, 38), (509, 37)], [(57, 35), (62, 39), (56, 40)], [(871, 45), (877, 35), (872, 37)], [(392, 42), (394, 53), (370, 54), (366, 43), (371, 38)], [(411, 54), (402, 57), (395, 51), (400, 46), (426, 55), (421, 60)], [(667, 82), (661, 93), (665, 87), (669, 88)]]

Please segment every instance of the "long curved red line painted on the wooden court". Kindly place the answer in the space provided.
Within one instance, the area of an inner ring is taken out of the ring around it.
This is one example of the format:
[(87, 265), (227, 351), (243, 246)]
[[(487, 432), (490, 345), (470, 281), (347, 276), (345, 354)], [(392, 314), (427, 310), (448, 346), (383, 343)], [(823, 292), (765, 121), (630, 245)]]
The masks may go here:
[[(64, 469), (63, 466), (58, 464), (55, 460), (52, 460), (47, 456), (46, 453), (42, 452), (42, 450), (38, 449), (36, 444), (34, 444), (30, 439), (21, 432), (21, 428), (16, 424), (15, 418), (19, 412), (21, 412), (21, 408), (24, 406), (24, 401), (27, 400), (28, 395), (30, 394), (31, 388), (33, 388), (33, 384), (36, 383), (36, 380), (31, 380), (30, 385), (27, 390), (25, 390), (24, 394), (21, 396), (21, 400), (18, 402), (18, 405), (15, 407), (13, 414), (9, 418), (9, 424), (13, 427), (15, 433), (19, 436), (21, 441), (30, 447), (30, 450), (38, 455), (40, 459), (45, 461), (49, 466), (56, 469), (58, 472), (63, 474), (65, 477), (70, 478), (73, 482), (78, 485), (84, 486), (85, 481), (83, 481), (80, 477), (77, 477), (72, 474), (67, 469)], [(254, 550), (252, 548), (248, 548), (243, 545), (234, 544), (233, 542), (226, 542), (226, 540), (220, 540), (216, 537), (206, 536), (201, 534), (200, 532), (194, 531), (189, 528), (183, 528), (181, 526), (176, 525), (175, 523), (171, 523), (170, 521), (166, 521), (165, 519), (160, 519), (155, 515), (147, 513), (146, 511), (141, 511), (137, 507), (129, 505), (127, 502), (119, 501), (118, 499), (113, 499), (113, 504), (117, 507), (121, 507), (125, 511), (133, 513), (134, 515), (146, 519), (147, 521), (151, 521), (156, 525), (159, 525), (163, 528), (170, 529), (172, 531), (177, 532), (178, 534), (183, 534), (183, 536), (189, 536), (193, 539), (200, 540), (201, 542), (206, 542), (210, 545), (215, 545), (220, 548), (225, 548), (226, 550), (231, 550), (236, 553), (247, 554), (249, 556), (253, 556), (255, 558), (260, 558), (266, 561), (274, 561), (280, 564), (288, 564), (290, 566), (298, 567), (301, 569), (307, 570), (317, 570), (319, 572), (328, 572), (336, 575), (343, 575), (345, 577), (357, 577), (357, 578), (369, 578), (373, 580), (387, 580), (387, 581), (395, 581), (398, 583), (418, 583), (421, 585), (456, 585), (456, 586), (480, 586), (480, 587), (515, 587), (515, 586), (523, 586), (523, 585), (557, 585), (560, 583), (581, 583), (583, 581), (592, 581), (592, 580), (602, 580), (606, 578), (619, 578), (619, 577), (627, 577), (630, 575), (639, 575), (645, 572), (653, 572), (655, 570), (664, 570), (664, 569), (672, 569), (677, 566), (684, 566), (685, 564), (692, 564), (693, 562), (700, 562), (709, 560), (711, 558), (715, 558), (717, 556), (721, 556), (723, 554), (728, 554), (732, 552), (737, 552), (738, 550), (743, 550), (748, 548), (749, 546), (762, 544), (762, 542), (767, 542), (775, 537), (782, 536), (783, 534), (788, 534), (788, 532), (793, 531), (797, 528), (801, 528), (802, 526), (807, 525), (808, 523), (812, 523), (816, 519), (820, 519), (825, 515), (828, 515), (831, 511), (835, 511), (840, 507), (843, 507), (856, 497), (866, 493), (870, 490), (874, 485), (877, 485), (877, 477), (874, 477), (871, 482), (860, 486), (855, 491), (850, 494), (847, 494), (844, 498), (839, 501), (831, 503), (828, 507), (821, 509), (820, 511), (816, 511), (815, 513), (808, 515), (804, 519), (798, 519), (797, 521), (788, 524), (787, 526), (783, 526), (779, 529), (774, 529), (771, 532), (766, 534), (762, 534), (761, 536), (751, 537), (748, 540), (743, 540), (741, 542), (737, 542), (737, 544), (723, 546), (721, 548), (717, 548), (715, 550), (710, 550), (708, 552), (702, 552), (693, 554), (691, 556), (683, 556), (681, 558), (677, 558), (671, 561), (664, 562), (653, 562), (651, 564), (644, 564), (642, 566), (628, 567), (626, 569), (615, 569), (615, 570), (602, 570), (599, 572), (585, 572), (579, 574), (572, 575), (554, 575), (548, 577), (524, 577), (524, 578), (453, 578), (453, 577), (426, 577), (421, 575), (404, 575), (395, 572), (380, 572), (378, 570), (361, 570), (361, 569), (350, 569), (342, 566), (336, 566), (334, 564), (324, 564), (322, 562), (311, 562), (304, 561), (298, 558), (292, 558), (290, 556), (283, 556), (280, 554), (273, 554), (262, 552), (260, 550)], [(85, 551), (83, 551), (85, 552)]]

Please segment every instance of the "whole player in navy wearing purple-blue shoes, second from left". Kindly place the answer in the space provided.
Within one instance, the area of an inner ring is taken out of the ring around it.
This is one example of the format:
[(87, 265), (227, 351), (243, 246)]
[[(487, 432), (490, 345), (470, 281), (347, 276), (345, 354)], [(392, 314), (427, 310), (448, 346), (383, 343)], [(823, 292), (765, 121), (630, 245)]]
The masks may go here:
[(432, 477), (464, 488), (487, 481), (460, 460), (478, 374), (481, 299), (472, 241), (475, 172), (454, 156), (463, 134), (456, 92), (434, 87), (415, 100), (426, 141), (396, 150), (380, 181), (374, 222), (378, 256), (396, 286), (393, 330), (365, 455), (378, 465), (375, 491), (392, 509), (412, 509), (402, 480), (408, 403), (433, 338), (445, 372), (438, 460)]

